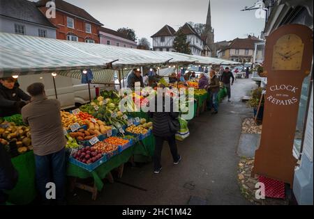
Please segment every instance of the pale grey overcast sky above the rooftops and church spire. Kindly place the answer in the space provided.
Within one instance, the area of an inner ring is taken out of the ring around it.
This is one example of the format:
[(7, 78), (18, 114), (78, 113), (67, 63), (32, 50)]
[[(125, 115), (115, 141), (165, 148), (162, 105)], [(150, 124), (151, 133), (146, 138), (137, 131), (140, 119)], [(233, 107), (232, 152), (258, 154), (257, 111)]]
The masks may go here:
[[(185, 22), (205, 23), (209, 0), (66, 0), (84, 8), (105, 27), (117, 30), (129, 27), (137, 38), (147, 38), (165, 24), (176, 31)], [(255, 10), (241, 11), (257, 0), (211, 0), (211, 26), (215, 42), (260, 35), (264, 19), (255, 17)]]

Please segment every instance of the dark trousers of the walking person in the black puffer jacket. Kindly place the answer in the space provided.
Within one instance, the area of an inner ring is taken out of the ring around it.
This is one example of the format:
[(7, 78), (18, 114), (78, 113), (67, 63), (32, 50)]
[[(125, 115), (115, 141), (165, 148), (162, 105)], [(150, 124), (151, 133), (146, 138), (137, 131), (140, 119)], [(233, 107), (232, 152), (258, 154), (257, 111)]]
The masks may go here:
[(170, 151), (172, 154), (172, 159), (174, 162), (177, 162), (179, 159), (179, 154), (177, 150), (177, 143), (175, 135), (169, 137), (160, 137), (155, 136), (155, 152), (154, 152), (154, 170), (159, 170), (161, 168), (160, 159), (161, 151), (163, 150), (163, 142), (167, 141), (170, 146)]

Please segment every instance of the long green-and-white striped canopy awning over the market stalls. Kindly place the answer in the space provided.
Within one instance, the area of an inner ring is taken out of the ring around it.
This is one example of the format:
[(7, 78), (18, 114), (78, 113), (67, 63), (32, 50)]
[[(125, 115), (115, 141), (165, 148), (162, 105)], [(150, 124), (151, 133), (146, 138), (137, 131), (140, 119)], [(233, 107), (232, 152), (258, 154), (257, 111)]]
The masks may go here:
[[(107, 65), (112, 63), (112, 65)], [(93, 69), (95, 74), (113, 75), (104, 71), (107, 67), (114, 70), (147, 65), (170, 64), (237, 64), (230, 60), (192, 56), (165, 51), (149, 51), (113, 47), (106, 44), (91, 44), (39, 38), (28, 35), (0, 33), (0, 78), (13, 74), (39, 74), (57, 72), (78, 77), (82, 69)], [(64, 73), (66, 72), (66, 73)], [(126, 71), (124, 71), (126, 74)], [(97, 76), (98, 77), (98, 76)], [(105, 79), (108, 81), (109, 79)]]

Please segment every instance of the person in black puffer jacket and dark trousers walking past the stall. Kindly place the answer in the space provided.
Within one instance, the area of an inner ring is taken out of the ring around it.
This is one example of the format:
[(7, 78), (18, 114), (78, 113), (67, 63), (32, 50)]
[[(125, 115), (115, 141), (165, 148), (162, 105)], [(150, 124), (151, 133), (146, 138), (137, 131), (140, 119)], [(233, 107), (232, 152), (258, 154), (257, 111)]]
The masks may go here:
[[(157, 103), (157, 98), (156, 98)], [(157, 104), (155, 105), (157, 108)], [(150, 117), (153, 118), (153, 134), (155, 137), (155, 152), (154, 152), (154, 173), (158, 174), (161, 170), (161, 151), (163, 149), (163, 142), (166, 140), (170, 146), (172, 159), (174, 164), (177, 165), (181, 161), (181, 156), (177, 151), (177, 144), (175, 132), (170, 129), (170, 122), (177, 119), (179, 112), (173, 111), (173, 101), (170, 99), (170, 112), (165, 111), (165, 98), (163, 98), (163, 111), (151, 112)]]

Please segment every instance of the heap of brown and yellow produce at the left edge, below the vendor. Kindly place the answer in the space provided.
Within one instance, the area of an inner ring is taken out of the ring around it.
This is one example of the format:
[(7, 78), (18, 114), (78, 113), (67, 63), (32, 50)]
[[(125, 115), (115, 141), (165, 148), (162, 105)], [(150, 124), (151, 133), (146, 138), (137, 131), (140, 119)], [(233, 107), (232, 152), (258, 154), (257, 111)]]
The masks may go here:
[(23, 154), (33, 149), (31, 145), (31, 130), (26, 126), (18, 126), (14, 122), (4, 121), (0, 124), (0, 143), (9, 145), (15, 142), (17, 152)]

